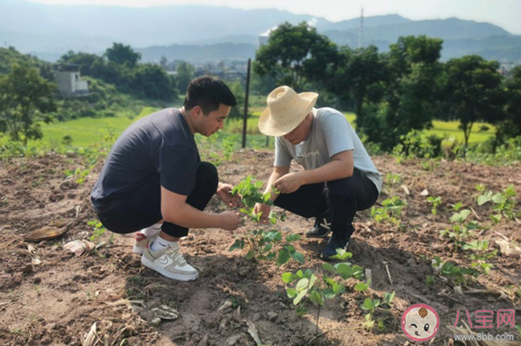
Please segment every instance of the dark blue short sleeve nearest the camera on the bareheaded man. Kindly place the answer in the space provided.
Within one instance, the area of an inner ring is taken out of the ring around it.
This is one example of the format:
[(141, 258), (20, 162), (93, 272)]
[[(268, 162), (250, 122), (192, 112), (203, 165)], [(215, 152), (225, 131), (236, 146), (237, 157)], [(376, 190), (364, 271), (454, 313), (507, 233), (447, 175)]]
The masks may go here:
[(182, 145), (161, 148), (158, 167), (161, 187), (178, 195), (190, 195), (196, 188), (199, 163), (199, 155), (193, 148)]

